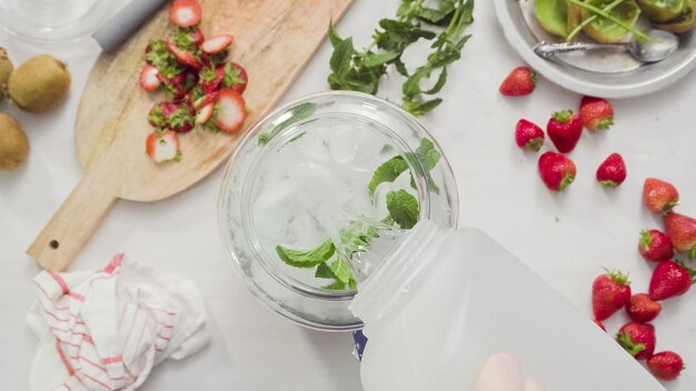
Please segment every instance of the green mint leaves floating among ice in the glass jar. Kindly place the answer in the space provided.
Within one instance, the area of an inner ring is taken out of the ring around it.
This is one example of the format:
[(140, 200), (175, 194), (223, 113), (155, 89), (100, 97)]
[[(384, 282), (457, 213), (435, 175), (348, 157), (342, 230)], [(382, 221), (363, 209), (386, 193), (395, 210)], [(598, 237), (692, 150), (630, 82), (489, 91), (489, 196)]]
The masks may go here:
[[(408, 170), (407, 161), (410, 161), (421, 166), (421, 173), (426, 179), (428, 190), (439, 193), (439, 189), (434, 183), (430, 176), (430, 171), (437, 166), (439, 159), (440, 152), (435, 149), (435, 144), (428, 139), (422, 139), (415, 153), (396, 156), (381, 163), (372, 173), (372, 178), (367, 186), (367, 191), (369, 196), (374, 198), (377, 187), (384, 182), (396, 181), (397, 178)], [(410, 184), (412, 188), (416, 188), (412, 174), (410, 174)], [(414, 196), (404, 189), (391, 190), (387, 192), (386, 202), (389, 215), (381, 220), (382, 223), (386, 225), (397, 224), (399, 228), (406, 230), (416, 225), (420, 213), (420, 205)], [(372, 224), (356, 220), (351, 221), (339, 232), (339, 243), (335, 243), (329, 239), (311, 250), (292, 250), (278, 244), (276, 245), (276, 252), (285, 263), (291, 267), (316, 268), (316, 278), (334, 280), (331, 283), (324, 285), (324, 289), (355, 289), (356, 281), (350, 271), (348, 260), (350, 260), (356, 252), (367, 250), (369, 241), (378, 237), (379, 233)], [(337, 251), (338, 245), (340, 245), (341, 251)], [(347, 257), (347, 259), (344, 257)]]

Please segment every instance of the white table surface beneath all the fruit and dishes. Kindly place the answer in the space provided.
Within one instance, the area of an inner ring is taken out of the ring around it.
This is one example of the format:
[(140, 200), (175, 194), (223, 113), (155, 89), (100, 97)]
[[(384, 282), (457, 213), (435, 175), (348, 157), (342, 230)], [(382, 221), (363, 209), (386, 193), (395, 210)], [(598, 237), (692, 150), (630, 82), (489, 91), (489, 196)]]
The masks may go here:
[[(356, 0), (339, 31), (364, 44), (377, 21), (394, 13), (396, 3)], [(696, 74), (650, 97), (614, 101), (616, 124), (600, 134), (583, 136), (570, 154), (578, 167), (575, 183), (566, 193), (553, 194), (538, 178), (537, 154), (523, 153), (515, 146), (514, 127), (521, 117), (545, 124), (551, 111), (576, 109), (580, 97), (545, 80), (530, 97), (501, 97), (497, 88), (520, 59), (505, 41), (488, 1), (478, 1), (475, 16), (474, 38), (463, 59), (449, 69), (445, 102), (422, 119), (453, 166), (460, 225), (487, 231), (588, 317), (590, 284), (601, 267), (630, 271), (634, 292), (646, 291), (652, 268), (636, 251), (637, 235), (642, 228), (660, 222), (642, 208), (644, 179), (675, 183), (682, 194), (679, 211), (696, 215), (692, 117)], [(72, 124), (99, 50), (92, 42), (32, 47), (7, 34), (0, 34), (0, 46), (9, 49), (16, 63), (51, 52), (68, 63), (73, 77), (68, 102), (50, 113), (31, 116), (0, 108), (21, 122), (31, 141), (28, 162), (0, 173), (0, 390), (26, 390), (36, 340), (24, 315), (33, 299), (31, 279), (39, 269), (24, 250), (80, 179)], [(328, 89), (330, 52), (325, 42), (285, 101)], [(623, 153), (628, 179), (618, 189), (601, 189), (595, 170), (614, 151)], [(161, 202), (119, 201), (72, 267), (100, 268), (126, 251), (167, 273), (190, 278), (201, 290), (212, 342), (195, 357), (165, 362), (142, 390), (360, 390), (348, 334), (295, 325), (271, 313), (242, 285), (218, 235), (221, 174), (218, 170)], [(668, 390), (696, 384), (694, 300), (696, 292), (688, 292), (665, 302), (654, 322), (657, 351), (676, 350), (688, 365)], [(614, 333), (625, 321), (622, 313), (606, 324)]]

